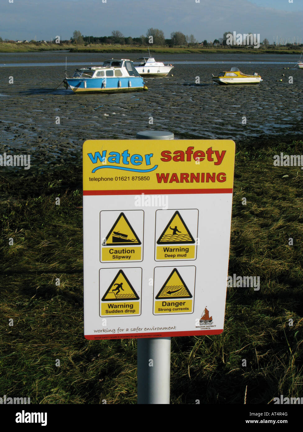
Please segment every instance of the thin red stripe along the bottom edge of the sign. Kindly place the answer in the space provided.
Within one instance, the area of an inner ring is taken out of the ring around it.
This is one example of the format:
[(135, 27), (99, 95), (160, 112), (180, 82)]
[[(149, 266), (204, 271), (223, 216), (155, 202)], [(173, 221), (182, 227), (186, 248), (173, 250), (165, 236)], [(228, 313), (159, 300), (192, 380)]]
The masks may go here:
[(88, 334), (84, 335), (85, 339), (97, 340), (97, 339), (141, 339), (149, 337), (175, 337), (175, 336), (204, 336), (205, 334), (221, 334), (222, 329), (218, 330), (195, 330), (195, 331), (174, 331), (165, 333), (138, 333), (138, 334)]

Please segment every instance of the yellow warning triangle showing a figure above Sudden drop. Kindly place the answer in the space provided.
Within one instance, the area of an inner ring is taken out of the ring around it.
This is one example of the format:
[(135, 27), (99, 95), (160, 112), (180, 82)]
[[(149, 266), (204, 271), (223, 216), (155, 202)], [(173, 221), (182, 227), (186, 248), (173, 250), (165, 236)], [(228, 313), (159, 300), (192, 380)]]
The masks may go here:
[(101, 300), (102, 302), (108, 300), (139, 300), (139, 296), (126, 277), (124, 271), (119, 270)]

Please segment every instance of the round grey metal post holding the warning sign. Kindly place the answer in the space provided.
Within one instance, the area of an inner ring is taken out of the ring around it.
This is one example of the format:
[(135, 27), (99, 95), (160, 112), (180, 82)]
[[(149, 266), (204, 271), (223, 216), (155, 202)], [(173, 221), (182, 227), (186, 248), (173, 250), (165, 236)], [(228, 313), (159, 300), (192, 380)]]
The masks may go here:
[[(138, 132), (137, 139), (173, 140), (174, 134), (146, 130)], [(137, 339), (137, 403), (169, 403), (170, 352), (170, 337)]]

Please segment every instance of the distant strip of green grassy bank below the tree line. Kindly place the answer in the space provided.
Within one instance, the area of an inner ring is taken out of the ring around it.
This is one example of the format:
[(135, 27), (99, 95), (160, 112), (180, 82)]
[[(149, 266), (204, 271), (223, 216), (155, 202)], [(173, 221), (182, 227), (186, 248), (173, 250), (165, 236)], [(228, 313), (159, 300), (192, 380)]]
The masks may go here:
[[(169, 47), (149, 47), (151, 53), (159, 54), (301, 54), (302, 49), (297, 48), (238, 48), (238, 47), (206, 47), (206, 48), (169, 48)], [(39, 51), (57, 51), (68, 50), (73, 53), (141, 53), (147, 51), (146, 45), (109, 45), (109, 44), (39, 44), (39, 43), (4, 43), (0, 42), (0, 52), (39, 52)]]

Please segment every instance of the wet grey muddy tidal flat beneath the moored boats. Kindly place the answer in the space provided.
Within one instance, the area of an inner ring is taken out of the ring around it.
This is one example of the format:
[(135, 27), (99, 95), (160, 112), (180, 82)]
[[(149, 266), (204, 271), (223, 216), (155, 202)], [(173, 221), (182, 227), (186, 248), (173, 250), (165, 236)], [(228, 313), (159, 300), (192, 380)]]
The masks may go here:
[[(294, 68), (293, 55), (162, 54), (156, 60), (173, 63), (173, 76), (146, 78), (147, 92), (114, 95), (75, 95), (63, 85), (54, 90), (64, 78), (65, 57), (71, 75), (77, 67), (102, 64), (105, 57), (135, 61), (138, 55), (0, 54), (4, 149), (26, 149), (48, 159), (80, 151), (86, 139), (134, 139), (137, 131), (146, 129), (169, 130), (175, 139), (236, 142), (260, 136), (298, 139), (302, 133), (303, 70)], [(212, 84), (212, 73), (233, 66), (248, 74), (258, 72), (263, 82)]]

